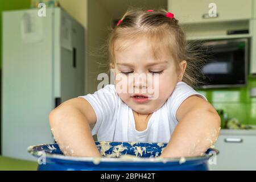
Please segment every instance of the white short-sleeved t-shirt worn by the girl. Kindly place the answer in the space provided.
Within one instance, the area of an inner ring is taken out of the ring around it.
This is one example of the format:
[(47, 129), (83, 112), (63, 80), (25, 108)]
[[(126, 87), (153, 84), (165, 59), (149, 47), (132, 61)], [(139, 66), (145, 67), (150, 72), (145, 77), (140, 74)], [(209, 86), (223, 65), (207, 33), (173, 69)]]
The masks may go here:
[(97, 121), (92, 126), (92, 135), (97, 134), (99, 141), (168, 143), (178, 123), (178, 107), (194, 94), (207, 101), (203, 94), (196, 92), (185, 82), (177, 82), (168, 100), (151, 115), (144, 131), (135, 129), (133, 110), (121, 100), (114, 85), (106, 85), (93, 94), (80, 97), (85, 98), (96, 113)]

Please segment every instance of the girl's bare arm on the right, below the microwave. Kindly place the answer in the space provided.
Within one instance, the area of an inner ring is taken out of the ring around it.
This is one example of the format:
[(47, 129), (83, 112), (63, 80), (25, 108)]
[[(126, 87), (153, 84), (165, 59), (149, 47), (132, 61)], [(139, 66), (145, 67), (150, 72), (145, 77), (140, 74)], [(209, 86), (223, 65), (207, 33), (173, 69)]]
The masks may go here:
[(220, 116), (209, 102), (198, 96), (188, 97), (177, 109), (179, 121), (162, 158), (203, 155), (220, 133)]

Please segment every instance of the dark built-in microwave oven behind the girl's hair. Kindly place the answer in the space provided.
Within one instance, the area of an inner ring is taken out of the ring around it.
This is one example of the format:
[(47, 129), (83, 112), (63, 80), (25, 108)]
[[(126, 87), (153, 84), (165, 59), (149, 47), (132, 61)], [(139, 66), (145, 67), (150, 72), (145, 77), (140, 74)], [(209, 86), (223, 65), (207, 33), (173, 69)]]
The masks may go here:
[(200, 68), (199, 88), (246, 85), (249, 39), (205, 40), (200, 47), (206, 59)]

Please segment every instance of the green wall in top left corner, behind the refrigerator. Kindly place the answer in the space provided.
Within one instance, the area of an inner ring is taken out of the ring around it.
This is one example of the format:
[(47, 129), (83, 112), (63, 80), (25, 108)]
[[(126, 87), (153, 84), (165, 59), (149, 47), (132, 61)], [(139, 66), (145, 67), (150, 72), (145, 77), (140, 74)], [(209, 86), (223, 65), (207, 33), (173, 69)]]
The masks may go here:
[(0, 0), (0, 69), (2, 69), (2, 11), (29, 9), (31, 0)]

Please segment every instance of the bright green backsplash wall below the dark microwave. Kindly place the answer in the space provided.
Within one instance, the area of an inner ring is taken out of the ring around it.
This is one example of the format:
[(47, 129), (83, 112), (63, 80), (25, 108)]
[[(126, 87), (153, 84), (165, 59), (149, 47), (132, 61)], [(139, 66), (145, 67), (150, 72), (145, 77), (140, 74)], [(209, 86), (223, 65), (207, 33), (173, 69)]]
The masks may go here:
[(250, 97), (250, 89), (256, 87), (256, 77), (249, 76), (247, 85), (241, 88), (201, 89), (215, 109), (223, 109), (229, 118), (237, 118), (242, 124), (256, 125), (256, 97)]

